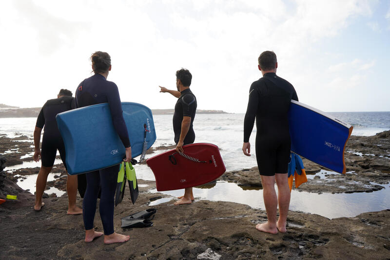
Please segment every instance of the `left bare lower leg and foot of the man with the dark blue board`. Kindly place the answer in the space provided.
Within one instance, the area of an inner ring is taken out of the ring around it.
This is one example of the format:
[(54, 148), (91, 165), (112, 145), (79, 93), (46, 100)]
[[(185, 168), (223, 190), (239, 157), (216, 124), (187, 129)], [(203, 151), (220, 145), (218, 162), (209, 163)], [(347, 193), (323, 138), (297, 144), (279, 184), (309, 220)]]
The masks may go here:
[(276, 209), (277, 198), (275, 192), (275, 176), (262, 176), (261, 184), (263, 185), (264, 205), (267, 211), (268, 221), (266, 223), (257, 224), (258, 231), (277, 234), (276, 228)]

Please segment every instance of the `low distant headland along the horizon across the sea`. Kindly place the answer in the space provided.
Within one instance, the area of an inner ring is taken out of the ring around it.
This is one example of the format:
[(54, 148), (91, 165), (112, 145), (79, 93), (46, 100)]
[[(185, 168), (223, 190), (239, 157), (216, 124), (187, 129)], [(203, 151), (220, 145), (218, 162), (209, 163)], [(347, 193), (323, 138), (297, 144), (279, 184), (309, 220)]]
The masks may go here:
[[(0, 118), (36, 118), (40, 107), (19, 108), (0, 104)], [(173, 115), (174, 109), (152, 109), (153, 115)], [(196, 114), (228, 114), (222, 110), (202, 110), (197, 109)]]

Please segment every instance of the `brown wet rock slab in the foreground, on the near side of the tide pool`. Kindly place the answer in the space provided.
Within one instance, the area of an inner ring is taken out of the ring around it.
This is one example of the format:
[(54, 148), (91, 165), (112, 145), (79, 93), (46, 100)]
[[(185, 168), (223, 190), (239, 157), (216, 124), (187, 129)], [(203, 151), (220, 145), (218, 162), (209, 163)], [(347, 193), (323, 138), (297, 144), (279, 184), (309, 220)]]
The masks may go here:
[[(149, 193), (153, 181), (145, 183), (150, 186), (140, 187), (135, 205), (126, 190), (115, 208), (115, 231), (130, 235), (130, 241), (110, 245), (103, 238), (84, 242), (82, 216), (66, 215), (66, 195), (44, 200), (45, 206), (35, 212), (34, 196), (19, 190), (19, 200), (0, 206), (0, 236), (7, 241), (0, 244), (0, 259), (196, 259), (205, 252), (228, 260), (389, 257), (390, 210), (333, 220), (291, 211), (288, 233), (271, 235), (254, 228), (266, 220), (265, 211), (207, 200), (182, 206), (171, 200), (150, 206), (152, 200), (166, 196)], [(157, 209), (152, 227), (120, 227), (121, 217), (151, 207)], [(99, 214), (95, 229), (102, 231)]]

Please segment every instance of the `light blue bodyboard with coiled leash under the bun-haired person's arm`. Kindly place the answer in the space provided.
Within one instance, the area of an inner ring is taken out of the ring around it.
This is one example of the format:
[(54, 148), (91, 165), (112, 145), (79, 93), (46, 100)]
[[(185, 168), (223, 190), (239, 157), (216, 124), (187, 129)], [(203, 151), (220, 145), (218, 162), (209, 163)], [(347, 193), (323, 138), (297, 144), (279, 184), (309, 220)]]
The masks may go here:
[[(148, 149), (156, 141), (152, 111), (133, 102), (122, 102), (122, 110), (135, 158), (142, 153), (145, 133)], [(114, 128), (108, 103), (62, 112), (56, 120), (65, 145), (69, 174), (107, 168), (125, 157), (125, 147)]]

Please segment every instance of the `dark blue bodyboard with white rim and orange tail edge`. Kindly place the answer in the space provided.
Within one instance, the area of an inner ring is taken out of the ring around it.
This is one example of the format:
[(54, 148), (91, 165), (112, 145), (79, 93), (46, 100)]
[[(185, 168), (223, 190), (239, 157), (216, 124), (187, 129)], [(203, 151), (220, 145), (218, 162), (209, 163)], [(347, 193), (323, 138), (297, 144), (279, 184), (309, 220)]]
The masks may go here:
[(338, 173), (345, 173), (344, 150), (353, 127), (335, 117), (291, 100), (292, 152)]

